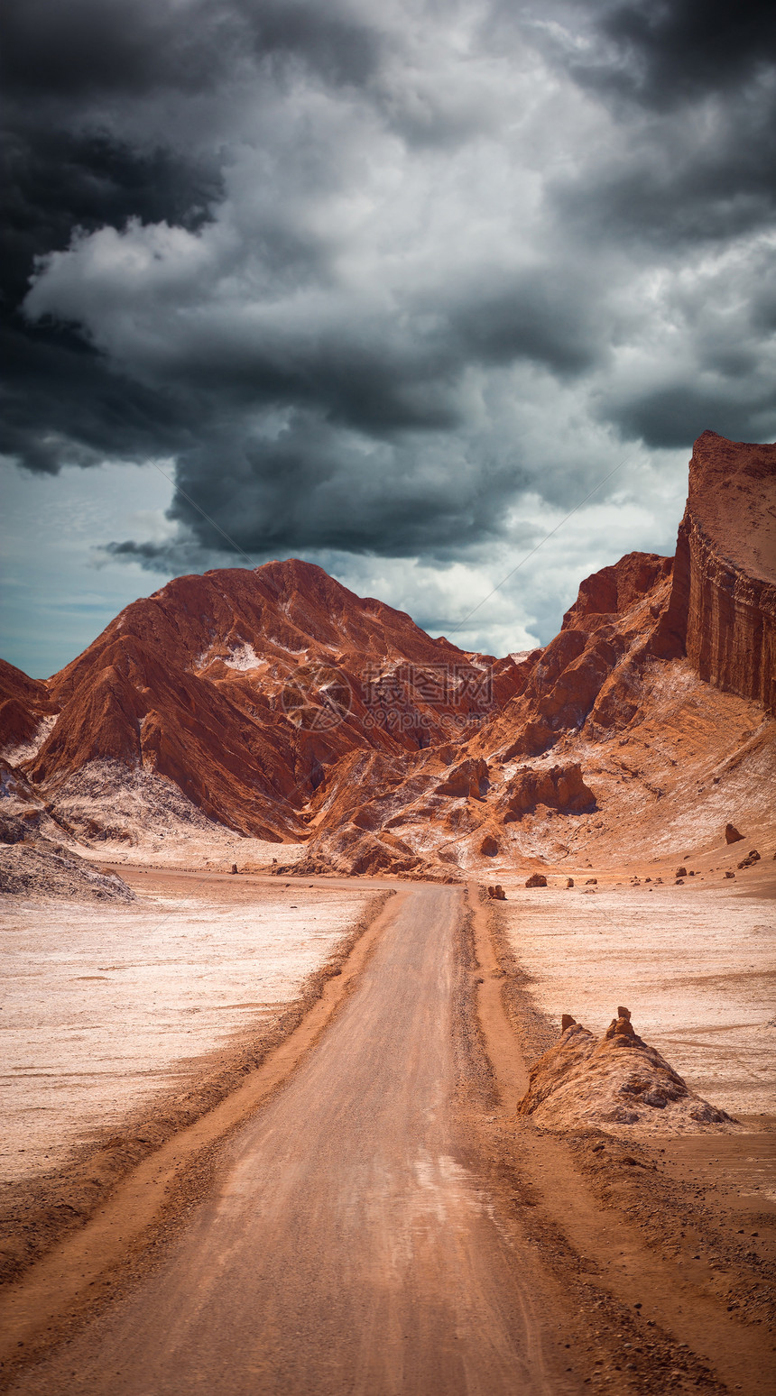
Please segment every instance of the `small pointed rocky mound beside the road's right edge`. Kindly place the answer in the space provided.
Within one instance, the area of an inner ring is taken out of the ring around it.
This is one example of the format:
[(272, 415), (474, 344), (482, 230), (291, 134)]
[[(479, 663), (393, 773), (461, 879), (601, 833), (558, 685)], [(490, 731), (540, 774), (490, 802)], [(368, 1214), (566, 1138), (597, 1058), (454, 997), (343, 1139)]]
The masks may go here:
[(636, 1034), (627, 1008), (617, 1009), (603, 1037), (564, 1013), (560, 1041), (530, 1068), (518, 1114), (547, 1129), (636, 1125), (636, 1132), (671, 1134), (736, 1127)]

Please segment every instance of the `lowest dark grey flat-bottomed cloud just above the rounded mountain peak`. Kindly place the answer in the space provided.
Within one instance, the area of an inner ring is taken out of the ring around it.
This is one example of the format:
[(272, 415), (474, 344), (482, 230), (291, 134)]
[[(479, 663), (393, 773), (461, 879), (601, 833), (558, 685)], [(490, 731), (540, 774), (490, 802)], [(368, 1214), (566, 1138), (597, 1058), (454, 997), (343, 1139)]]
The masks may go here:
[[(225, 433), (181, 452), (170, 517), (205, 551), (227, 547), (226, 533), (255, 558), (321, 549), (449, 558), (461, 540), (502, 536), (502, 501), (519, 477), (525, 470), (505, 463), (483, 491), (477, 462), (462, 451), (451, 459), (444, 437), (366, 454), (359, 438), (297, 412), (274, 441)], [(124, 540), (110, 551), (158, 568), (176, 547)]]

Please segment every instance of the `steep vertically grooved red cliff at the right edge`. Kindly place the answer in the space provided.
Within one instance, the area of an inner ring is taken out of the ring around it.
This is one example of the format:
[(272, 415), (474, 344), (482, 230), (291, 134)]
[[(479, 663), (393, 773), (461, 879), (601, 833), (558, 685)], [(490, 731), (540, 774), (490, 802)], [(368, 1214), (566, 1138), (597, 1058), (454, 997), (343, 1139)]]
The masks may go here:
[(776, 712), (776, 445), (698, 437), (659, 652)]

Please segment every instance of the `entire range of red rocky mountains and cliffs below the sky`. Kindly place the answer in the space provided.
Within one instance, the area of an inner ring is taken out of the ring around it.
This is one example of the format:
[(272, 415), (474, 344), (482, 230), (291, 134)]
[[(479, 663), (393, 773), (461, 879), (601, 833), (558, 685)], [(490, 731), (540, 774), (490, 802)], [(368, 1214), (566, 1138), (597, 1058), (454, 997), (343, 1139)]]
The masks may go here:
[(212, 821), (306, 842), (301, 868), (431, 877), (701, 847), (775, 821), (775, 635), (776, 447), (706, 431), (676, 558), (586, 578), (528, 655), (431, 639), (290, 560), (177, 578), (47, 683), (0, 664), (6, 811), (85, 842)]

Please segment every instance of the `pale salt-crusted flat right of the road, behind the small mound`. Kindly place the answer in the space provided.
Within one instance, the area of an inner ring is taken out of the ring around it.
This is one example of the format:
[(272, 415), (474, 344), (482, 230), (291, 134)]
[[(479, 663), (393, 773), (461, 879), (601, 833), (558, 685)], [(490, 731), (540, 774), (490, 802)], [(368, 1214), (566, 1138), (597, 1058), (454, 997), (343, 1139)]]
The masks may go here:
[(773, 900), (504, 886), (511, 945), (558, 1034), (561, 1013), (602, 1033), (624, 1004), (639, 1036), (705, 1100), (733, 1115), (776, 1114)]

